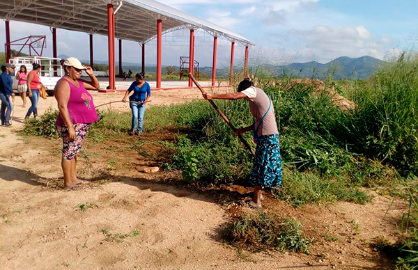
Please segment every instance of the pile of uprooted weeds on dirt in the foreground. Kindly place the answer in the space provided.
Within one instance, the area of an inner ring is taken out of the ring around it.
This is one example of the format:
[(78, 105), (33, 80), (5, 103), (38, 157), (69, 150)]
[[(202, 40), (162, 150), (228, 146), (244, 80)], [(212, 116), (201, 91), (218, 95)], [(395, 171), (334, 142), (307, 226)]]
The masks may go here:
[(240, 216), (229, 226), (230, 242), (247, 251), (276, 248), (280, 251), (309, 253), (311, 240), (303, 236), (299, 221), (283, 219), (270, 212)]

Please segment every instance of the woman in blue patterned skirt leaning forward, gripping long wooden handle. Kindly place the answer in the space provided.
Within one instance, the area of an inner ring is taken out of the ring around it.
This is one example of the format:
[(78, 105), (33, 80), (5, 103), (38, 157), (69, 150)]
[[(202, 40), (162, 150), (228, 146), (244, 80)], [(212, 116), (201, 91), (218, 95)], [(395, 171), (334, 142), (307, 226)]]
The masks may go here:
[(253, 125), (237, 129), (235, 134), (254, 131), (254, 142), (257, 143), (254, 165), (249, 176), (249, 183), (254, 186), (254, 198), (250, 207), (261, 208), (263, 195), (261, 190), (281, 184), (281, 157), (279, 132), (276, 116), (270, 97), (260, 88), (253, 86), (251, 79), (246, 78), (238, 85), (238, 93), (211, 94), (203, 93), (206, 100), (240, 100), (249, 101), (249, 111), (255, 118)]

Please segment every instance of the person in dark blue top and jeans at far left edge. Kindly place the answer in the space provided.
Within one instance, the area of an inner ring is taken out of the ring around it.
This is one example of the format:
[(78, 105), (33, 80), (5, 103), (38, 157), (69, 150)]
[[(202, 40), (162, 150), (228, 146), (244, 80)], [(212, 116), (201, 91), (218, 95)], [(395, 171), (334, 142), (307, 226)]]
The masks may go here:
[(1, 66), (0, 74), (0, 100), (1, 100), (1, 109), (0, 109), (0, 118), (1, 125), (3, 127), (11, 127), (10, 123), (10, 113), (13, 111), (13, 102), (15, 102), (15, 93), (13, 92), (13, 79), (12, 72), (15, 68), (15, 65), (7, 63), (6, 65)]

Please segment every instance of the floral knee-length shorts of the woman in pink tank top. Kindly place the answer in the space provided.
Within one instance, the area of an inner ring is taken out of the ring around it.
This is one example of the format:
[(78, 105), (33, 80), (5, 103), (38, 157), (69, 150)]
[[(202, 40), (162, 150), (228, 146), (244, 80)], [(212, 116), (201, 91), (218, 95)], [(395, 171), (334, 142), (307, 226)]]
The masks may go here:
[(90, 124), (75, 124), (75, 140), (68, 138), (68, 127), (65, 125), (56, 127), (63, 138), (63, 158), (72, 160), (82, 149)]

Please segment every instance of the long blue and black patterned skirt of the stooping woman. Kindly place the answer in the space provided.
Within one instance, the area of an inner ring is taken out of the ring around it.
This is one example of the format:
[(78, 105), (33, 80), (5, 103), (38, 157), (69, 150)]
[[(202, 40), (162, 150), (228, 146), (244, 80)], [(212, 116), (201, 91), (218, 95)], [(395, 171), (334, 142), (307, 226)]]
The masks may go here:
[(253, 186), (270, 188), (279, 186), (281, 184), (279, 135), (264, 135), (258, 139), (249, 183)]

